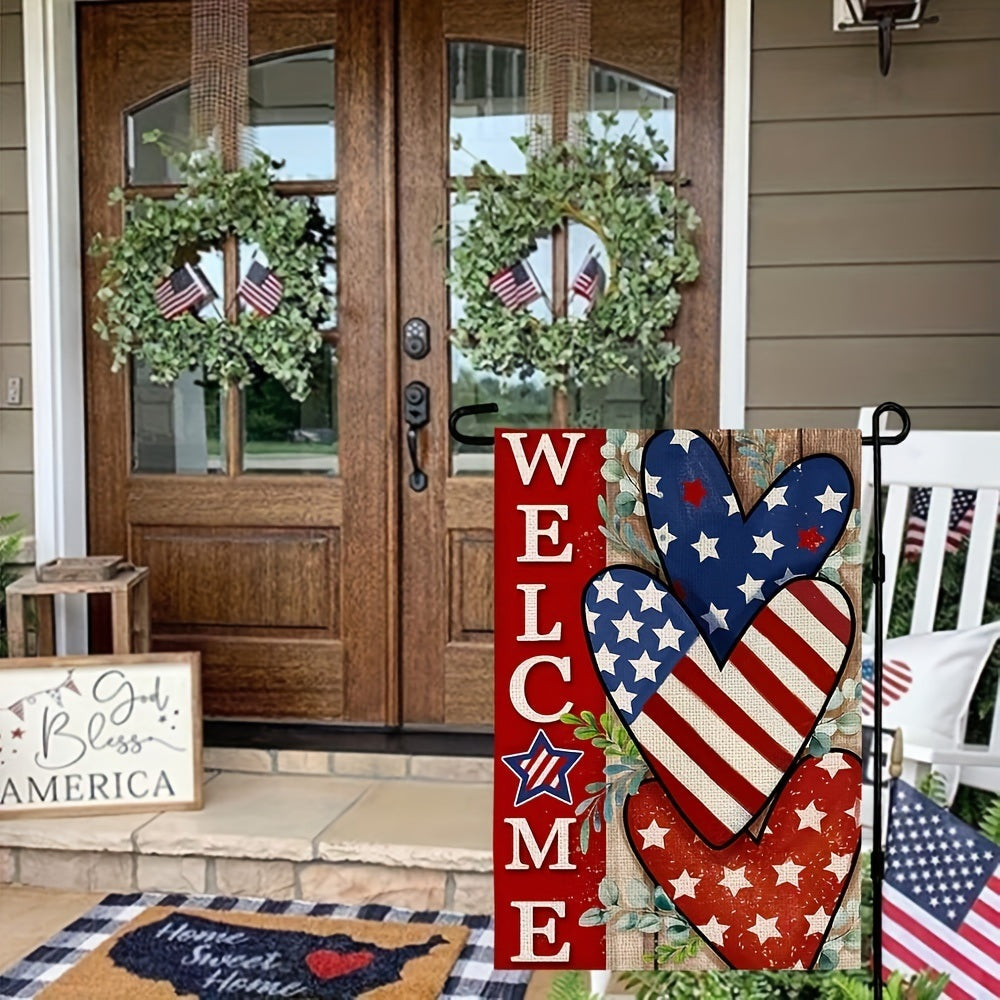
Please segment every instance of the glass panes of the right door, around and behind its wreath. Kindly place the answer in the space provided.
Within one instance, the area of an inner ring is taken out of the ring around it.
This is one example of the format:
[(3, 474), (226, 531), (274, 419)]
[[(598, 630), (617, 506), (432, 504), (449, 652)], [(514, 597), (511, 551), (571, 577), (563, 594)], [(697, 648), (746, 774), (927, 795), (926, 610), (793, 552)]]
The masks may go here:
[[(482, 42), (452, 42), (449, 45), (449, 137), (453, 143), (449, 167), (450, 176), (464, 177), (471, 173), (477, 160), (486, 160), (508, 173), (525, 169), (524, 154), (513, 139), (528, 130), (525, 98), (524, 50), (514, 46), (489, 45)], [(638, 80), (604, 66), (592, 65), (590, 72), (590, 111), (588, 119), (595, 131), (604, 128), (600, 115), (614, 113), (617, 118), (612, 135), (631, 132), (640, 138), (648, 125), (670, 147), (661, 161), (664, 173), (674, 169), (676, 142), (676, 98), (672, 91)], [(648, 113), (643, 121), (640, 114)], [(458, 146), (456, 149), (455, 146)], [(459, 203), (450, 194), (450, 245), (461, 240), (462, 225), (475, 212), (475, 202)], [(567, 229), (567, 276), (570, 281), (583, 266), (591, 251), (605, 269), (604, 250), (595, 243), (593, 234), (576, 224)], [(552, 301), (553, 254), (552, 239), (538, 241), (537, 249), (527, 261), (546, 298), (528, 307), (540, 318), (550, 315)], [(579, 314), (586, 304), (569, 298), (570, 315)], [(449, 302), (449, 323), (452, 328), (463, 315), (462, 301), (454, 293)], [(552, 391), (541, 378), (534, 376), (501, 378), (490, 372), (477, 371), (461, 351), (451, 349), (451, 407), (473, 403), (497, 403), (500, 418), (507, 427), (539, 427), (552, 422)], [(670, 419), (669, 387), (662, 381), (640, 374), (620, 376), (601, 388), (583, 388), (571, 393), (571, 421), (574, 424), (632, 427), (662, 427)], [(478, 426), (467, 419), (463, 428), (470, 434), (489, 434), (495, 418), (486, 417)], [(452, 473), (454, 475), (489, 475), (493, 458), (489, 448), (470, 447), (452, 441)]]

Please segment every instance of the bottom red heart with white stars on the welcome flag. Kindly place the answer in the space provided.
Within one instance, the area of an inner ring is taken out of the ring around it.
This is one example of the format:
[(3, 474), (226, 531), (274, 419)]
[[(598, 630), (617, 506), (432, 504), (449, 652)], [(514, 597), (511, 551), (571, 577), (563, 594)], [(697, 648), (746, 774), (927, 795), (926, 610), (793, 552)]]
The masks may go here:
[(745, 833), (713, 850), (659, 784), (647, 781), (625, 805), (625, 828), (650, 878), (727, 965), (808, 969), (857, 863), (860, 789), (855, 754), (807, 757), (760, 837)]

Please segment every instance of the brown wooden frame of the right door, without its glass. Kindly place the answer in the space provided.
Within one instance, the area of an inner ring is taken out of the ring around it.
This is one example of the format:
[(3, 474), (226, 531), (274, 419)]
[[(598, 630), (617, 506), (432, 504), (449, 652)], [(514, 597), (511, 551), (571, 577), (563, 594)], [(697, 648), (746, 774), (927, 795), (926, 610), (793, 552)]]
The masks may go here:
[[(431, 389), (432, 421), (421, 457), (428, 489), (402, 492), (404, 720), (488, 725), (492, 719), (491, 479), (455, 477), (445, 433), (450, 403), (447, 247), (432, 242), (448, 217), (449, 40), (523, 47), (528, 2), (400, 0), (400, 309), (432, 331), (432, 351), (404, 360), (403, 381)], [(677, 173), (703, 223), (700, 281), (685, 292), (673, 331), (683, 361), (674, 423), (713, 426), (718, 414), (719, 232), (722, 144), (721, 0), (595, 3), (591, 58), (677, 95)], [(440, 100), (441, 105), (437, 102)], [(498, 417), (503, 425), (503, 414)], [(428, 609), (447, 609), (444, 615)]]

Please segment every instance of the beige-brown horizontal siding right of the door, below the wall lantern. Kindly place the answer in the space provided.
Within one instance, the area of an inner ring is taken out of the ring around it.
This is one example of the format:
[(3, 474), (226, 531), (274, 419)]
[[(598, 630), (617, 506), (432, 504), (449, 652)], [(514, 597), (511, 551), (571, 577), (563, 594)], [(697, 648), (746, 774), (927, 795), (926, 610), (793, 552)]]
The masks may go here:
[(747, 423), (1000, 428), (1000, 3), (896, 33), (754, 0)]

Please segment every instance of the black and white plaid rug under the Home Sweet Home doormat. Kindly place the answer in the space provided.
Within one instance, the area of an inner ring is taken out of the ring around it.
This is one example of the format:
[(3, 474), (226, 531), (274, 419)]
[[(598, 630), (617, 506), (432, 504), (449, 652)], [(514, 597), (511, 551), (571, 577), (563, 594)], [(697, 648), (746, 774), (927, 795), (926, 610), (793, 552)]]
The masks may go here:
[(445, 983), (441, 994), (444, 1000), (457, 1000), (458, 997), (520, 1000), (530, 975), (528, 972), (501, 972), (493, 968), (493, 921), (486, 916), (470, 917), (434, 910), (417, 912), (391, 906), (342, 906), (336, 903), (132, 892), (106, 896), (17, 965), (0, 974), (0, 997), (33, 997), (40, 993), (149, 906), (288, 913), (304, 917), (349, 917), (414, 924), (461, 924), (469, 928), (469, 940)]

